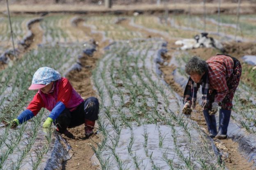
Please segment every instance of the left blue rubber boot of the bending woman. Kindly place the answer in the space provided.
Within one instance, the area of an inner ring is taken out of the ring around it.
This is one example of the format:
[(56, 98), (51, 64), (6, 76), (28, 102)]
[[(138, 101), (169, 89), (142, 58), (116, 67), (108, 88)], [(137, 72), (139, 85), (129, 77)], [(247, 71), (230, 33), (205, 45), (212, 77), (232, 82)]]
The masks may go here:
[(205, 109), (203, 110), (203, 116), (204, 116), (204, 119), (206, 120), (209, 136), (211, 138), (214, 138), (217, 134), (217, 125), (216, 125), (215, 115), (209, 115), (209, 111)]

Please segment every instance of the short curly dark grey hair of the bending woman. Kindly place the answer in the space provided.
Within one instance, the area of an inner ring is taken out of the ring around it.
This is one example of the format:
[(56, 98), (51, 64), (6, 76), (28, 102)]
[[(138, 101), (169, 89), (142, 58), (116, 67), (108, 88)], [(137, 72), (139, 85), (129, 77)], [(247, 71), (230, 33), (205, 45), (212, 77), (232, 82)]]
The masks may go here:
[(207, 72), (208, 64), (206, 61), (199, 59), (197, 56), (193, 56), (185, 66), (185, 72), (190, 75), (192, 73), (197, 73), (203, 75), (204, 72)]

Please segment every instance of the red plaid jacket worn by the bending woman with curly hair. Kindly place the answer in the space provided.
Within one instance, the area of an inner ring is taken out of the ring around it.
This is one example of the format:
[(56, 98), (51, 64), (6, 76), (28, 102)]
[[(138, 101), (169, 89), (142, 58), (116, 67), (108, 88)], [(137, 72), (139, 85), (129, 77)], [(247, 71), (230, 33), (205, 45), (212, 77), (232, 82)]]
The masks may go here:
[(208, 79), (210, 84), (210, 93), (217, 91), (215, 102), (222, 102), (226, 94), (229, 92), (227, 82), (233, 73), (233, 60), (225, 55), (213, 56), (206, 60), (208, 63)]

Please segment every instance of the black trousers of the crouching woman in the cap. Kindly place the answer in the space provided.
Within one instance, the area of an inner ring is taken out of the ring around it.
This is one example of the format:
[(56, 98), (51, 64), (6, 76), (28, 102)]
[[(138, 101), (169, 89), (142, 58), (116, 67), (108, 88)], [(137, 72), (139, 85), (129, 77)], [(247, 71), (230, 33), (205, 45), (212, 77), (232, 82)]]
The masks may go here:
[(66, 128), (82, 125), (85, 119), (97, 120), (99, 112), (99, 102), (96, 97), (89, 97), (82, 102), (74, 111), (64, 109), (54, 124), (63, 133)]

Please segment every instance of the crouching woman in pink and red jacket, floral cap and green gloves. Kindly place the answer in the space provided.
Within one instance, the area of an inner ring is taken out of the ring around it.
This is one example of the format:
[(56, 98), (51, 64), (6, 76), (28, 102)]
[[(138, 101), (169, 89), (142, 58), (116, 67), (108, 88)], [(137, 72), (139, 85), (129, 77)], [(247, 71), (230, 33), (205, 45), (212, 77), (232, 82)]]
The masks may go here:
[(43, 128), (50, 127), (53, 122), (59, 133), (73, 138), (67, 127), (85, 123), (85, 136), (88, 138), (93, 134), (99, 112), (97, 98), (89, 97), (83, 100), (68, 79), (48, 67), (41, 67), (34, 73), (29, 90), (37, 89), (39, 90), (27, 109), (12, 120), (14, 127), (36, 116), (41, 108), (46, 108), (51, 112), (43, 123)]

